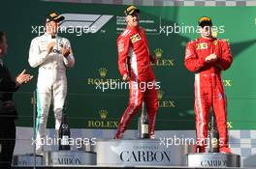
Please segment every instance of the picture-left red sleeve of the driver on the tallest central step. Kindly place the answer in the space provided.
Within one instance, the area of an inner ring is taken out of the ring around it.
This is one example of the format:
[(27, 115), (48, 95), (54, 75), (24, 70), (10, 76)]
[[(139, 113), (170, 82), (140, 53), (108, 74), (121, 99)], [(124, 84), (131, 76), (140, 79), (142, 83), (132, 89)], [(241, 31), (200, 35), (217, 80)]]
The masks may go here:
[[(122, 35), (121, 35), (122, 36)], [(129, 75), (129, 70), (127, 66), (127, 57), (129, 53), (130, 38), (120, 37), (117, 40), (117, 50), (118, 50), (118, 69), (120, 74), (123, 76), (125, 73)]]

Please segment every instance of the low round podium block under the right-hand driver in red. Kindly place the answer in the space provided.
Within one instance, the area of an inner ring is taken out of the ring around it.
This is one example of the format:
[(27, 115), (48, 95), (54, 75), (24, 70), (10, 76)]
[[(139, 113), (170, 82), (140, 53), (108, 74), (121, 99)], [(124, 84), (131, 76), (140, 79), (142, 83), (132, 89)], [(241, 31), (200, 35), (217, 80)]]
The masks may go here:
[(203, 153), (188, 154), (188, 167), (240, 167), (240, 155)]

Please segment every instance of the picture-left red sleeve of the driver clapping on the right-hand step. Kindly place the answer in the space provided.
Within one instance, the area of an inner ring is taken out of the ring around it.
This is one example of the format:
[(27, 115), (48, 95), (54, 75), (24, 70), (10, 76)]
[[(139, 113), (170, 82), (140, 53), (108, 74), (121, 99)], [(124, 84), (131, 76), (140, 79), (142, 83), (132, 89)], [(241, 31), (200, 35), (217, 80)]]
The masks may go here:
[(205, 59), (199, 58), (198, 55), (195, 53), (195, 46), (191, 42), (188, 42), (186, 45), (184, 59), (184, 65), (186, 69), (192, 72), (197, 72), (198, 70), (204, 68), (206, 64), (207, 63)]

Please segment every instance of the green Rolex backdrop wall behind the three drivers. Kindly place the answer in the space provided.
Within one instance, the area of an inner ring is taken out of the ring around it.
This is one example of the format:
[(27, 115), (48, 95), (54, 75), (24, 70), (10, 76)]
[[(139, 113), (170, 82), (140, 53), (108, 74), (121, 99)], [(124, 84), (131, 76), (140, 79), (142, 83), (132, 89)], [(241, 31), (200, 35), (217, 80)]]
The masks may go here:
[[(33, 127), (33, 92), (37, 69), (28, 64), (33, 38), (44, 32), (44, 15), (63, 14), (59, 35), (70, 40), (76, 65), (67, 69), (68, 123), (73, 128), (116, 128), (129, 97), (117, 67), (116, 39), (125, 28), (125, 6), (5, 1), (1, 30), (7, 31), (6, 65), (15, 76), (34, 75), (15, 95), (18, 127)], [(157, 61), (152, 68), (159, 82), (156, 129), (194, 129), (194, 74), (183, 65), (185, 44), (200, 36), (197, 20), (212, 18), (214, 35), (230, 42), (234, 62), (223, 71), (228, 97), (228, 127), (256, 128), (256, 8), (254, 7), (139, 7), (140, 24)], [(52, 109), (52, 107), (51, 107)], [(129, 128), (137, 128), (137, 116)], [(54, 126), (52, 110), (48, 127)]]

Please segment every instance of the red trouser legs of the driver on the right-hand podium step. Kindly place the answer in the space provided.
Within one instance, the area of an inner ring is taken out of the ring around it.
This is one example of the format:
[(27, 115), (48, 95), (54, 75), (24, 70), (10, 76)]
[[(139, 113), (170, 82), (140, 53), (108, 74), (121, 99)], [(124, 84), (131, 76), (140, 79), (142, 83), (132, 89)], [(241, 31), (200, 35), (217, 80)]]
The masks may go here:
[[(213, 84), (208, 85), (211, 81)], [(205, 83), (204, 83), (205, 82)], [(195, 78), (195, 113), (196, 113), (196, 131), (197, 143), (199, 146), (206, 147), (208, 138), (208, 116), (212, 106), (216, 118), (216, 124), (219, 131), (220, 147), (228, 147), (227, 134), (227, 110), (226, 97), (221, 79), (216, 75), (209, 77), (202, 76), (199, 73)]]

